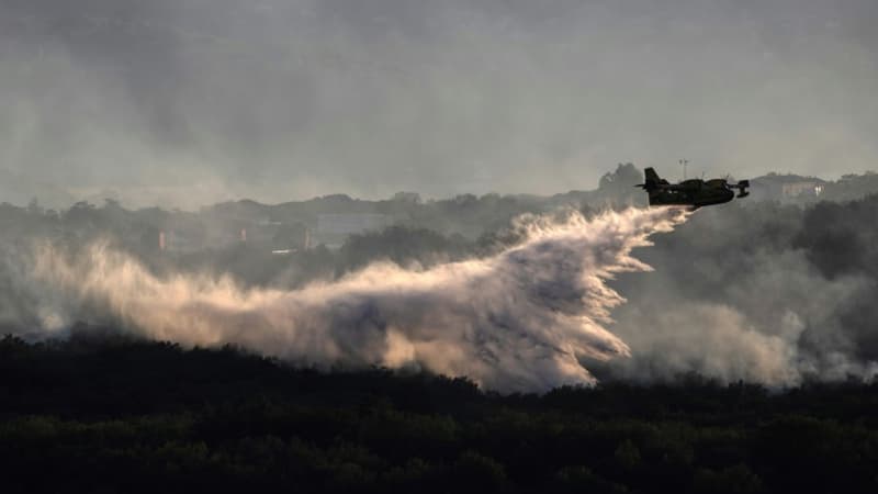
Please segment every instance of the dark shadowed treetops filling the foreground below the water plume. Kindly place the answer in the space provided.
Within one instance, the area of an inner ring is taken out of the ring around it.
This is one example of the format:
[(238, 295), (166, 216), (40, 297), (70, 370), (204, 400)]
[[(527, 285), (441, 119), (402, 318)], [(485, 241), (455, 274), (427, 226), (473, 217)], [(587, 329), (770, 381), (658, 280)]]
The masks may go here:
[(875, 384), (484, 393), (232, 348), (0, 341), (4, 492), (875, 492)]

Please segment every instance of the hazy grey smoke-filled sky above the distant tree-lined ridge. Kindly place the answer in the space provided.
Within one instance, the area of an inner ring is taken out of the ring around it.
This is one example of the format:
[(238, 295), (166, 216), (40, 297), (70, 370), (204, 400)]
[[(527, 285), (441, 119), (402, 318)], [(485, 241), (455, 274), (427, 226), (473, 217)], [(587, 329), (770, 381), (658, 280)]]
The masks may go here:
[(0, 0), (0, 202), (862, 172), (875, 25), (875, 0)]

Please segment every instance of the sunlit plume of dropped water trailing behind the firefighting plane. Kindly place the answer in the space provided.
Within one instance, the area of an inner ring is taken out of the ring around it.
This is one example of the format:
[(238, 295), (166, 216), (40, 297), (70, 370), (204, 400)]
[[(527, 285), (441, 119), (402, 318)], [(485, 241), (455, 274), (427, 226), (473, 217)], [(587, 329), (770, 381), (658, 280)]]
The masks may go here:
[(106, 312), (143, 336), (184, 345), (235, 344), (320, 368), (424, 368), (499, 391), (542, 391), (594, 383), (582, 358), (629, 355), (604, 327), (624, 302), (606, 280), (650, 270), (631, 250), (686, 215), (526, 216), (515, 225), (522, 240), (493, 257), (421, 271), (378, 263), (295, 291), (157, 277), (105, 244), (80, 257), (43, 247), (34, 279), (52, 293), (43, 312), (54, 327)]

